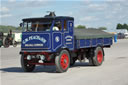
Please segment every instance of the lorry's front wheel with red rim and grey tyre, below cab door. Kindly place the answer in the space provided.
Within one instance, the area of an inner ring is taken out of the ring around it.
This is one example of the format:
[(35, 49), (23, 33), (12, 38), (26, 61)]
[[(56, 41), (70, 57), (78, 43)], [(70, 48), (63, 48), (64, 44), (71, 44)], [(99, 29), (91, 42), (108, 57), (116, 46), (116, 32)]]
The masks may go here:
[(67, 50), (62, 50), (55, 58), (56, 72), (66, 72), (70, 65), (70, 55)]

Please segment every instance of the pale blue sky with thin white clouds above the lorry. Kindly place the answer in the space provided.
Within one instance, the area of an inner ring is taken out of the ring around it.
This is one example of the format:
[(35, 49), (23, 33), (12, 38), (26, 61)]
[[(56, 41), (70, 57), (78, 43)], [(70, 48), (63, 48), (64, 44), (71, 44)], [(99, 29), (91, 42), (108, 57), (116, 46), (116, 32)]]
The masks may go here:
[(43, 17), (46, 11), (73, 16), (75, 25), (116, 29), (128, 24), (128, 0), (1, 0), (0, 24), (18, 26), (23, 18)]

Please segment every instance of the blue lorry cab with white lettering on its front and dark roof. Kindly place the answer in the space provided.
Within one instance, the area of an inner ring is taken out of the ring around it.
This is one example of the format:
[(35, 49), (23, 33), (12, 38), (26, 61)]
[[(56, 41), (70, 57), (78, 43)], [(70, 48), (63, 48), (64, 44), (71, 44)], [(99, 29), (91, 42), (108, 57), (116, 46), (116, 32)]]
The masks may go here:
[(73, 20), (72, 17), (23, 19), (21, 51), (56, 52), (60, 47), (73, 49)]

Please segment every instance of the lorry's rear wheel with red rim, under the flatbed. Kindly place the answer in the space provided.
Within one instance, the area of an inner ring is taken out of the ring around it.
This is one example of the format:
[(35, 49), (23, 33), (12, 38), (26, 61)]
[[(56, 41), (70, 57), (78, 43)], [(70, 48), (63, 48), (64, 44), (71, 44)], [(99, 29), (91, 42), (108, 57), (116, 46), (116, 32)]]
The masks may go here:
[(99, 66), (103, 63), (104, 54), (101, 47), (97, 47), (94, 50), (94, 56), (89, 58), (89, 64), (94, 66)]

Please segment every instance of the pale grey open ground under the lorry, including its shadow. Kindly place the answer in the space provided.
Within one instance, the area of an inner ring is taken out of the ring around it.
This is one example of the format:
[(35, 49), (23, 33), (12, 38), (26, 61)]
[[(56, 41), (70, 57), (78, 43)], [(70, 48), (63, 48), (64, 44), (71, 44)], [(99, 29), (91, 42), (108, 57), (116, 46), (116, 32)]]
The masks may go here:
[(20, 47), (0, 48), (1, 85), (128, 85), (128, 39), (105, 48), (105, 62), (98, 67), (79, 63), (65, 73), (55, 66), (37, 66), (25, 73), (20, 66)]

